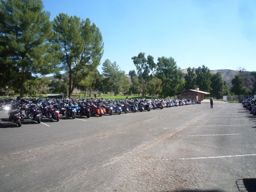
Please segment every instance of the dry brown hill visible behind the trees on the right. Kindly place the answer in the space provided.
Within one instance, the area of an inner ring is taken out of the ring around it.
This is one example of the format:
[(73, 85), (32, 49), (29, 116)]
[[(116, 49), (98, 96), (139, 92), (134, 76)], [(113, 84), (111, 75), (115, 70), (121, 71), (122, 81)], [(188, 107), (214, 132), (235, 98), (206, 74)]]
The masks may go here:
[[(181, 70), (184, 73), (184, 76), (187, 74), (187, 69)], [(230, 69), (217, 69), (217, 70), (210, 70), (211, 74), (216, 74), (217, 72), (221, 72), (222, 79), (226, 82), (227, 87), (230, 88), (232, 86), (231, 80), (234, 78), (238, 71), (230, 70)], [(249, 71), (244, 71), (249, 72)]]

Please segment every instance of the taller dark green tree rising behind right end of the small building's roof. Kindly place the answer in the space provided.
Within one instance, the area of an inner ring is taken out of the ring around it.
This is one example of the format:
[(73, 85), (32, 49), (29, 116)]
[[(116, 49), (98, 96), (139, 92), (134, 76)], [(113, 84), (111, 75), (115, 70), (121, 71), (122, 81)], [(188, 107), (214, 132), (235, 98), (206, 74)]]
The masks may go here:
[(196, 85), (200, 91), (209, 92), (211, 91), (211, 73), (210, 69), (206, 66), (198, 67), (196, 69)]

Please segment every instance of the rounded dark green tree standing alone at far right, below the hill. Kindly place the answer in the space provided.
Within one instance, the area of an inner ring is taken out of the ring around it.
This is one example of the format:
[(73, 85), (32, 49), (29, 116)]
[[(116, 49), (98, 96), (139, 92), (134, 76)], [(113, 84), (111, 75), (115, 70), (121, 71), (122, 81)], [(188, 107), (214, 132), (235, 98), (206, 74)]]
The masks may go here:
[(240, 74), (235, 75), (234, 79), (231, 81), (232, 87), (230, 91), (236, 95), (248, 95), (248, 89), (245, 85), (244, 79)]

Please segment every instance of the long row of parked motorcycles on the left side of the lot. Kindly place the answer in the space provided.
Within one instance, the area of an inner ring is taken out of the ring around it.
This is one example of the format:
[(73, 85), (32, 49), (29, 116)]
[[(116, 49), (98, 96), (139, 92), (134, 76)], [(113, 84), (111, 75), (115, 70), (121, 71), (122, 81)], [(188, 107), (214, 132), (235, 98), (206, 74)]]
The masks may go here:
[[(113, 113), (136, 113), (150, 111), (151, 109), (163, 109), (174, 106), (200, 104), (190, 99), (7, 99), (0, 100), (0, 110), (7, 110), (9, 121), (22, 126), (21, 121), (28, 118), (41, 123), (42, 117), (58, 122), (60, 115), (75, 119), (77, 116), (101, 117), (103, 114), (111, 116)], [(24, 113), (25, 115), (24, 115)], [(1, 124), (1, 120), (0, 120)]]

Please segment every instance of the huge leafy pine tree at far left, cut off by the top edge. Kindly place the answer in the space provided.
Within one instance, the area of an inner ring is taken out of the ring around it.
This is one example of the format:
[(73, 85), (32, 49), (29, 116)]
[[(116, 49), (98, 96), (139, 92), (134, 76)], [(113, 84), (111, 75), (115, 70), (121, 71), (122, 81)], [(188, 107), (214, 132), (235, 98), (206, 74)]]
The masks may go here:
[(54, 34), (50, 13), (43, 8), (41, 0), (0, 1), (0, 59), (13, 69), (20, 97), (25, 81), (33, 79), (33, 75), (59, 70), (59, 46), (51, 42)]

